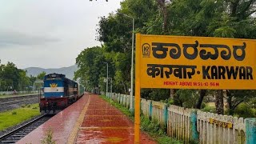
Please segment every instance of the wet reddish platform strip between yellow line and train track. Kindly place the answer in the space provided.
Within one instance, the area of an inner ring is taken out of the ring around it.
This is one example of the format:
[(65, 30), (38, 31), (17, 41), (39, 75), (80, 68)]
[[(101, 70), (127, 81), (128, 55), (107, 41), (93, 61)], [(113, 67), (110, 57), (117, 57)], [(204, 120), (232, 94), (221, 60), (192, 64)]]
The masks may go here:
[(53, 118), (50, 118), (47, 122), (43, 123), (17, 143), (41, 144), (42, 139), (46, 138), (48, 130), (53, 131), (53, 139), (56, 143), (67, 143), (82, 109), (86, 106), (88, 98), (88, 96), (84, 95), (78, 100), (78, 102), (75, 102), (65, 110), (62, 110), (58, 114), (54, 115)]

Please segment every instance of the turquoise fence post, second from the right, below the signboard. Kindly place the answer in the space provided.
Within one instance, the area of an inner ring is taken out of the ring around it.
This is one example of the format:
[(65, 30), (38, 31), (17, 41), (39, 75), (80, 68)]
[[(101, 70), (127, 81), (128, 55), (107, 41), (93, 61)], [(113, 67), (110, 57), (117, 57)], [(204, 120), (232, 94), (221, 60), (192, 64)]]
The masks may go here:
[(191, 134), (192, 134), (192, 140), (198, 141), (198, 131), (197, 131), (197, 110), (191, 111), (190, 116), (190, 126), (191, 126)]

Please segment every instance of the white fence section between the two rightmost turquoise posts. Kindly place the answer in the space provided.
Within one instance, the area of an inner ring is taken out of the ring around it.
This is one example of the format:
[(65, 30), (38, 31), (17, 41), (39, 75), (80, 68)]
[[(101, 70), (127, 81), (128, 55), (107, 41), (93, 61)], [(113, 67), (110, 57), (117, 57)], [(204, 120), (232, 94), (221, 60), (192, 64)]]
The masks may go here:
[[(210, 123), (210, 118), (214, 119), (215, 122)], [(229, 123), (230, 127), (227, 126)], [(206, 113), (198, 110), (197, 126), (199, 140), (202, 144), (246, 143), (246, 123), (243, 118)]]

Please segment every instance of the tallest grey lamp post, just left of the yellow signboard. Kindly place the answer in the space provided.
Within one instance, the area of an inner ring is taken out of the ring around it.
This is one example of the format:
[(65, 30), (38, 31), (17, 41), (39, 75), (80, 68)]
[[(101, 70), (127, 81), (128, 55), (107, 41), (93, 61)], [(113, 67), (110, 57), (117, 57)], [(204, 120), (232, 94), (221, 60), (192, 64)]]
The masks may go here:
[(131, 66), (130, 66), (130, 111), (134, 111), (134, 105), (133, 105), (133, 94), (134, 94), (134, 18), (122, 13), (117, 13), (119, 15), (132, 18), (133, 19), (133, 31), (132, 31), (132, 46), (131, 46)]

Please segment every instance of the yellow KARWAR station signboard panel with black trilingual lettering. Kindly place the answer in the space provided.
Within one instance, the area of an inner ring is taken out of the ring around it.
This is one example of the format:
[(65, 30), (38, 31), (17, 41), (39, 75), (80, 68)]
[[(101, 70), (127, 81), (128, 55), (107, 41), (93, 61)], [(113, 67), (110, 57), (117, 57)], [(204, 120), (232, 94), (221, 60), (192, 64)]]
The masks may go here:
[(136, 61), (141, 88), (256, 89), (256, 40), (136, 34)]

